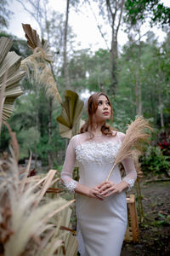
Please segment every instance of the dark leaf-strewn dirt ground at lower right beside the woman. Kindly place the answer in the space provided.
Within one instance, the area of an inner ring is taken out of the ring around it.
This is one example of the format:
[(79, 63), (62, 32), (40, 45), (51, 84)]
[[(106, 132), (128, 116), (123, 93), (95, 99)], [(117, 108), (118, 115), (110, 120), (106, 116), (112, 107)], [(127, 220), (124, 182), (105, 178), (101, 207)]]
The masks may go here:
[(145, 178), (141, 192), (144, 221), (139, 224), (139, 242), (124, 241), (121, 256), (170, 255), (170, 182), (148, 182)]

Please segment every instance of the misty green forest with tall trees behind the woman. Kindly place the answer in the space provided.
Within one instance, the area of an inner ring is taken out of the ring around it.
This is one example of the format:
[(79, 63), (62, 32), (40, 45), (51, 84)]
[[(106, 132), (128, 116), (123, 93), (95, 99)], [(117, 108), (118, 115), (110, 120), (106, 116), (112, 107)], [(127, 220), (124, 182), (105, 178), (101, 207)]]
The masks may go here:
[[(127, 124), (136, 115), (142, 114), (150, 119), (156, 132), (151, 147), (147, 149), (151, 154), (146, 152), (144, 163), (147, 170), (166, 171), (168, 174), (170, 8), (157, 0), (65, 0), (65, 9), (59, 13), (49, 8), (48, 0), (18, 2), (37, 22), (40, 38), (48, 40), (54, 55), (51, 68), (61, 97), (64, 99), (65, 90), (69, 89), (76, 91), (85, 101), (84, 92), (89, 95), (94, 91), (104, 91), (110, 96), (114, 109), (111, 125), (119, 131), (126, 131)], [(0, 37), (12, 38), (14, 44), (11, 50), (26, 58), (31, 55), (26, 40), (7, 32), (13, 15), (10, 4), (10, 1), (1, 1)], [(93, 8), (93, 4), (97, 9)], [(81, 13), (86, 6), (94, 15), (105, 42), (103, 49), (92, 51), (75, 44), (76, 36), (69, 23), (69, 15), (71, 9)], [(144, 31), (146, 24), (148, 30)], [(151, 29), (156, 26), (166, 32), (161, 42)], [(127, 34), (127, 43), (122, 48), (119, 48), (117, 39), (120, 27)], [(53, 102), (44, 87), (33, 79), (23, 79), (21, 87), (24, 93), (16, 100), (14, 113), (8, 120), (20, 144), (20, 162), (29, 157), (31, 150), (37, 170), (38, 163), (44, 166), (44, 171), (52, 167), (59, 170), (65, 157), (65, 138), (60, 137), (56, 121), (61, 106)], [(82, 119), (86, 118), (84, 108)], [(3, 126), (1, 152), (8, 150), (8, 141), (8, 131)], [(152, 159), (149, 155), (152, 155)]]

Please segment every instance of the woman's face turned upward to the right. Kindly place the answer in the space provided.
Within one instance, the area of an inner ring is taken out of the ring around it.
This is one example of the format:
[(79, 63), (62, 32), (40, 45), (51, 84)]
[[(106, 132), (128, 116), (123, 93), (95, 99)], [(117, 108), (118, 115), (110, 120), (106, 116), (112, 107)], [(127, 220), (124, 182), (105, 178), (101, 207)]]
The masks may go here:
[(100, 95), (98, 98), (98, 108), (96, 110), (95, 120), (97, 123), (104, 122), (111, 118), (111, 105), (106, 96)]

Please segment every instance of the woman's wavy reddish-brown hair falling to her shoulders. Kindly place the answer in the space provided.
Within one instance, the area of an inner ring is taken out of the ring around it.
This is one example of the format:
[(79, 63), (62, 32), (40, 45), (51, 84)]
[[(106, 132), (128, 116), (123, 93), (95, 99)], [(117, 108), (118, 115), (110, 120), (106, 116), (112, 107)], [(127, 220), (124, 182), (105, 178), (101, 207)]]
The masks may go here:
[[(94, 128), (94, 125), (95, 125), (94, 113), (96, 113), (96, 110), (98, 108), (98, 104), (99, 104), (98, 99), (99, 99), (99, 96), (101, 95), (107, 98), (111, 106), (111, 102), (108, 96), (105, 95), (105, 93), (95, 92), (93, 95), (91, 95), (88, 99), (88, 121), (84, 125), (82, 125), (80, 129), (80, 133), (84, 133), (86, 131), (90, 132), (89, 127)], [(112, 119), (113, 119), (113, 108), (111, 107), (111, 120)], [(106, 124), (102, 125), (101, 132), (106, 136), (113, 136), (112, 129), (109, 125), (106, 125)], [(93, 133), (92, 132), (90, 133), (92, 137), (94, 137)]]

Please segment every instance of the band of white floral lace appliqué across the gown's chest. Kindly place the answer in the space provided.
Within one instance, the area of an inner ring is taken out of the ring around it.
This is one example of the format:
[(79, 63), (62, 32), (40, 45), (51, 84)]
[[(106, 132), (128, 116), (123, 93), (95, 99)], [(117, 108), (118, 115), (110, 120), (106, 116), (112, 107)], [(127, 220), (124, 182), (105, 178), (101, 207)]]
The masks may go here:
[(82, 143), (75, 148), (77, 161), (82, 164), (87, 162), (113, 163), (120, 146), (120, 143), (112, 142)]

